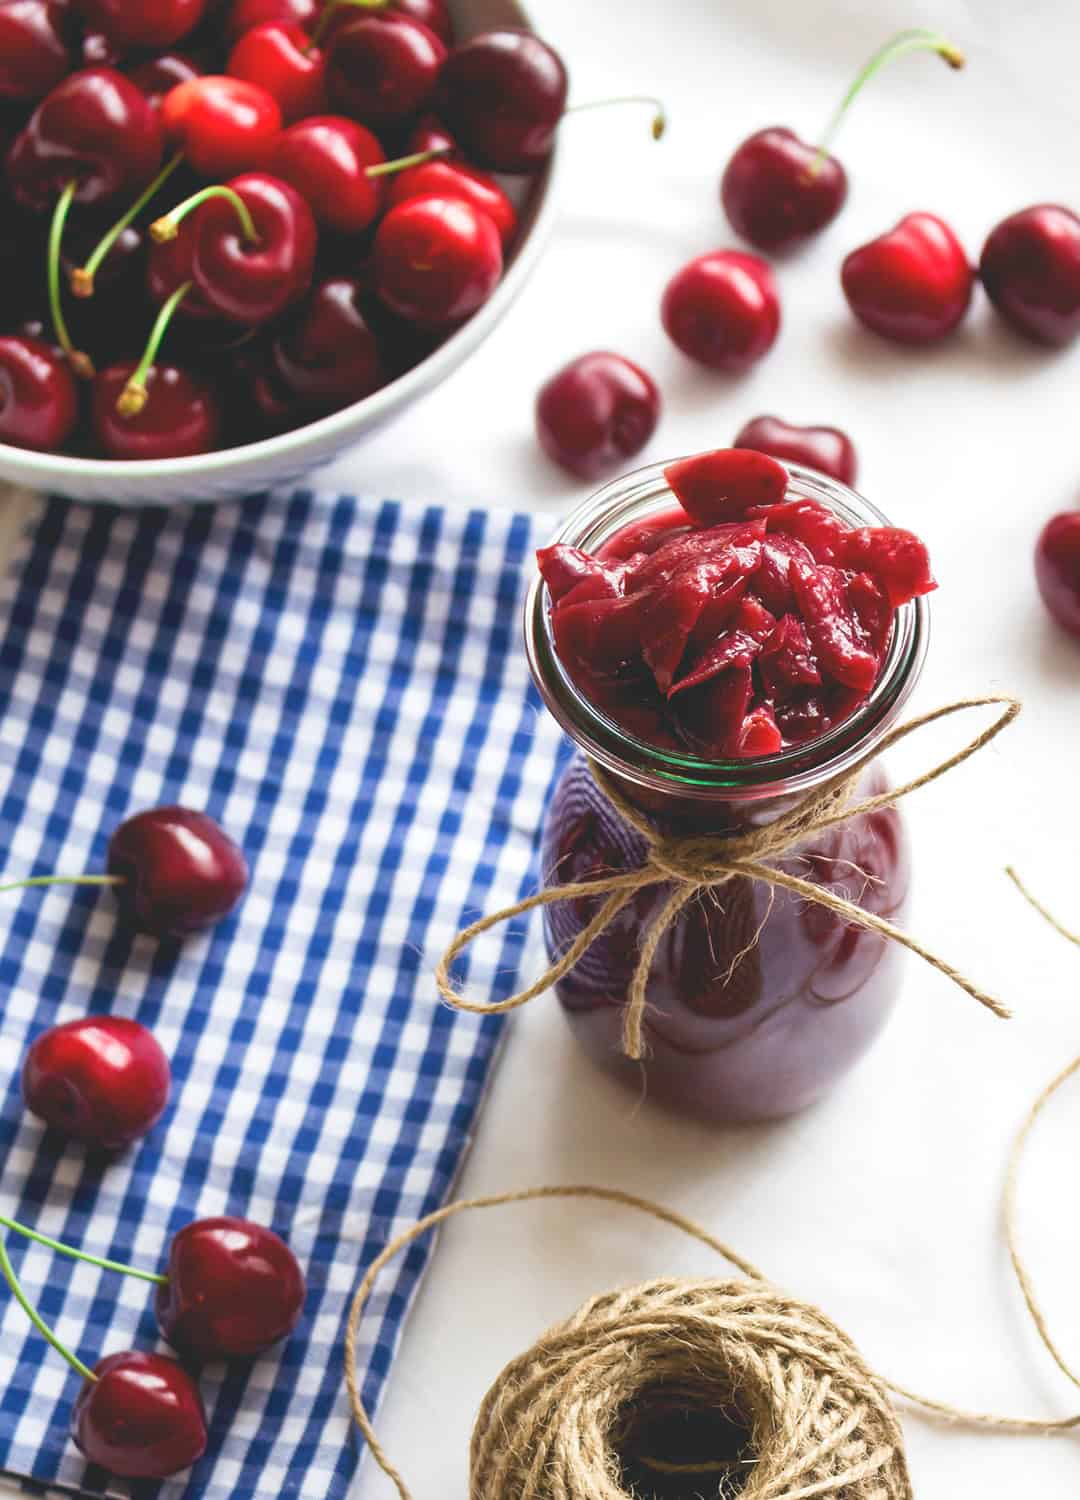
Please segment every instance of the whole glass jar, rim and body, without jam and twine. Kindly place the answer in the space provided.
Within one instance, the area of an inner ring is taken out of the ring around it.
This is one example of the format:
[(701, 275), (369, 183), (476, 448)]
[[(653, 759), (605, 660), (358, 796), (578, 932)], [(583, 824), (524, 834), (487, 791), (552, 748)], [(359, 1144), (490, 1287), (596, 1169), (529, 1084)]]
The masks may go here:
[[(861, 495), (789, 465), (792, 496), (828, 506), (852, 526), (890, 522)], [(602, 489), (555, 538), (596, 552), (622, 526), (674, 504), (663, 466)], [(926, 656), (924, 598), (897, 610), (870, 698), (820, 738), (750, 760), (702, 760), (636, 740), (596, 708), (564, 670), (552, 639), (548, 590), (525, 606), (530, 664), (543, 699), (578, 746), (543, 828), (546, 885), (598, 879), (644, 864), (642, 836), (596, 784), (585, 756), (645, 812), (662, 836), (747, 832), (798, 796), (843, 776), (873, 752), (910, 694)], [(886, 788), (879, 764), (855, 790)], [(903, 921), (910, 880), (903, 814), (852, 818), (812, 836), (780, 861), (890, 921)], [(556, 986), (579, 1042), (634, 1089), (711, 1120), (790, 1114), (820, 1098), (872, 1046), (896, 1004), (903, 951), (879, 933), (788, 891), (736, 878), (699, 892), (663, 933), (650, 970), (644, 1062), (622, 1052), (627, 990), (642, 934), (670, 894), (636, 892), (615, 922)], [(552, 958), (586, 926), (598, 898), (544, 910)], [(644, 1070), (644, 1077), (642, 1077)]]

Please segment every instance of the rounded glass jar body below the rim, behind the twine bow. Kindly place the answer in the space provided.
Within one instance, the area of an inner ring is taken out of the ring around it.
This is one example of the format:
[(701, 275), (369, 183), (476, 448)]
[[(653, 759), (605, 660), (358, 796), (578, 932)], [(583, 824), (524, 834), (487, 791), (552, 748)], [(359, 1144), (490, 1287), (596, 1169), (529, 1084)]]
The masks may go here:
[[(886, 789), (872, 765), (858, 798)], [(746, 832), (784, 798), (694, 806), (651, 798), (666, 836)], [(597, 788), (584, 756), (564, 771), (543, 831), (546, 885), (639, 868), (642, 836)], [(879, 808), (812, 836), (782, 868), (890, 921), (902, 921), (910, 862), (903, 816)], [(820, 1098), (873, 1044), (896, 1004), (903, 950), (828, 908), (736, 878), (696, 896), (663, 933), (650, 970), (644, 1064), (622, 1053), (622, 1020), (640, 940), (670, 886), (634, 894), (556, 986), (570, 1026), (600, 1066), (650, 1098), (722, 1122), (790, 1114)], [(548, 950), (566, 951), (597, 898), (546, 909)], [(644, 1070), (644, 1074), (642, 1074)]]

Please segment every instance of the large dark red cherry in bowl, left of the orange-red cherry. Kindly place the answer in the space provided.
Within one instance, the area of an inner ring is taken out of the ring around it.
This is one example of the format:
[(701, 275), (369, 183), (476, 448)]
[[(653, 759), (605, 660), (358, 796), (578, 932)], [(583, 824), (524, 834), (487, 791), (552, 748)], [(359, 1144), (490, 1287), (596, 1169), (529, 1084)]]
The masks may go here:
[(146, 96), (111, 68), (72, 74), (46, 94), (8, 153), (15, 201), (51, 207), (69, 182), (78, 202), (134, 198), (162, 159), (158, 116)]

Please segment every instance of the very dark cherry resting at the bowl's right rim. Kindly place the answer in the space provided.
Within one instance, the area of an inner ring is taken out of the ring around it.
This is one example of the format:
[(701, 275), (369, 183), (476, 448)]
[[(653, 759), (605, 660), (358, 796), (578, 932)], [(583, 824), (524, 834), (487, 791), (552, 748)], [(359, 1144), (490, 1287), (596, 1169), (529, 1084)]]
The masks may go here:
[(480, 166), (534, 172), (550, 156), (567, 87), (562, 58), (532, 32), (484, 32), (450, 52), (438, 112)]

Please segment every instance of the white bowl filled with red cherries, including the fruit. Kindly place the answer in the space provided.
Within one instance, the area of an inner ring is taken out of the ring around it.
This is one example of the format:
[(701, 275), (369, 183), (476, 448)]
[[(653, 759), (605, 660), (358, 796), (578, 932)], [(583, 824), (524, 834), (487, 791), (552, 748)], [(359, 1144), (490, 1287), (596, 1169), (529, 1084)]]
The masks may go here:
[(0, 0), (0, 478), (328, 460), (520, 291), (566, 106), (516, 0)]

